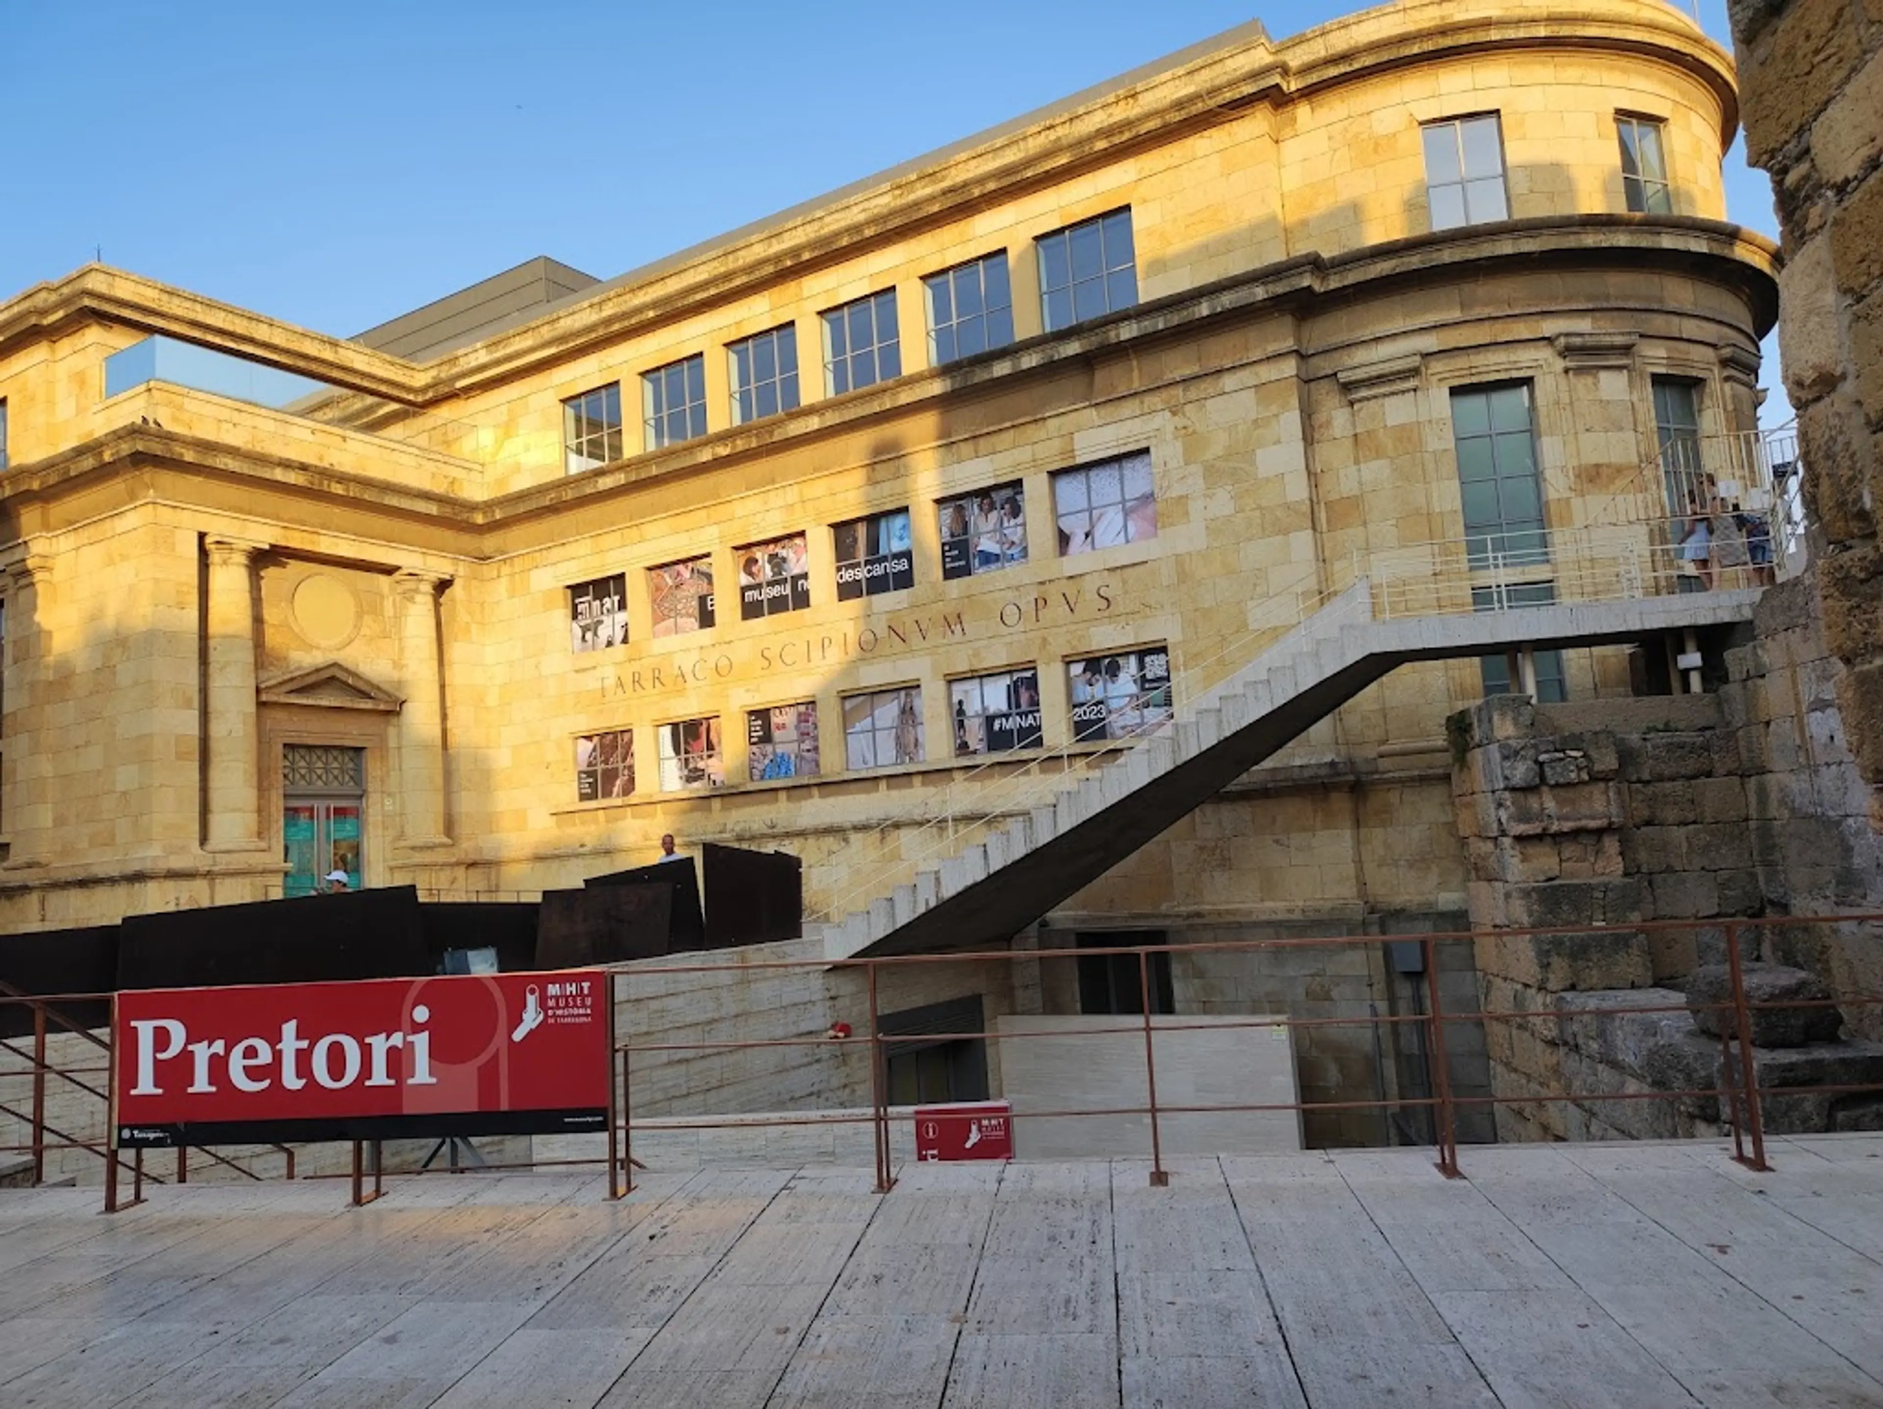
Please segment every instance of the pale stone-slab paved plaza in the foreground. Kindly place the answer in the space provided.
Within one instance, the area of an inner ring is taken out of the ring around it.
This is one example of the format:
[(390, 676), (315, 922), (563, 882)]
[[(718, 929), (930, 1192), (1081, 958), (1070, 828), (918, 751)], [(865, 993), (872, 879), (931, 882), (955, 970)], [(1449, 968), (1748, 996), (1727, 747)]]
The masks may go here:
[(1883, 1136), (0, 1192), (0, 1403), (1883, 1405)]

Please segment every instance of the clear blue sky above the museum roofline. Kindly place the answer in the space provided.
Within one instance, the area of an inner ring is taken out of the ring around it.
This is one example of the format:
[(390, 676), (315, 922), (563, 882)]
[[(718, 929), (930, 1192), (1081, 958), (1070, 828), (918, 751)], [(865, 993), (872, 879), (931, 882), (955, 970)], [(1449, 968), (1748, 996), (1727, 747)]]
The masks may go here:
[[(0, 298), (102, 249), (356, 333), (533, 254), (621, 273), (1247, 19), (1358, 8), (6, 0)], [(1700, 17), (1725, 40), (1721, 0)], [(1776, 234), (1738, 151), (1727, 188)]]

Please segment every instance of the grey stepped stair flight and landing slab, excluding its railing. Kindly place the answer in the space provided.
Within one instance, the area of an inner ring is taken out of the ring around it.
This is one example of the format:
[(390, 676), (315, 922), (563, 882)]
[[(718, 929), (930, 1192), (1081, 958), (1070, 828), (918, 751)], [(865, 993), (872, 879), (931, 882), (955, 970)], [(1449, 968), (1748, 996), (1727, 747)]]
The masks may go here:
[[(1749, 622), (1757, 599), (1674, 591), (1380, 620), (1390, 595), (1361, 578), (1109, 761), (1079, 770), (1075, 753), (1066, 772), (1030, 778), (1028, 793), (938, 833), (926, 855), (872, 872), (866, 904), (840, 900), (847, 914), (806, 932), (829, 959), (1004, 944), (1399, 665)], [(894, 883), (893, 870), (913, 876)]]

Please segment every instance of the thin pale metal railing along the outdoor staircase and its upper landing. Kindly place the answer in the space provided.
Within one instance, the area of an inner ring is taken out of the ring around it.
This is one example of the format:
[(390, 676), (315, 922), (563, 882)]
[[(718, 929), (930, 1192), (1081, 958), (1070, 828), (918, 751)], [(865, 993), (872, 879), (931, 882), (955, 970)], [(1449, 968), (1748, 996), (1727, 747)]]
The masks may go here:
[[(1518, 529), (1356, 552), (1341, 588), (1320, 586), (1320, 571), (1303, 565), (1290, 586), (1248, 616), (1248, 627), (1209, 656), (1186, 661), (1167, 686), (1171, 710), (1103, 744), (1068, 738), (1026, 761), (990, 757), (953, 778), (942, 797), (930, 795), (919, 818), (883, 821), (853, 842), (876, 853), (842, 891), (810, 919), (842, 921), (891, 895), (925, 866), (957, 855), (996, 827), (1036, 806), (1047, 806), (1077, 782), (1081, 770), (1111, 763), (1145, 738), (1192, 720), (1216, 703), (1216, 688), (1262, 654), (1282, 644), (1341, 593), (1365, 584), (1326, 614), (1316, 627), (1339, 631), (1352, 624), (1408, 616), (1456, 616), (1523, 610), (1525, 607), (1636, 601), (1640, 597), (1762, 586), (1761, 569), (1738, 561), (1717, 569), (1714, 584), (1683, 556), (1687, 518), (1646, 518), (1569, 529)], [(1152, 701), (1134, 697), (1134, 706)]]

